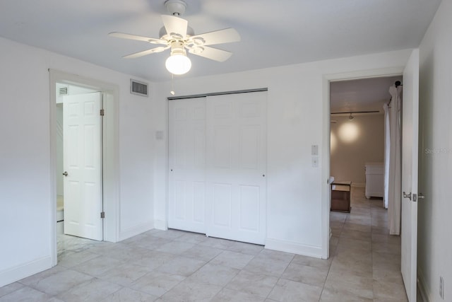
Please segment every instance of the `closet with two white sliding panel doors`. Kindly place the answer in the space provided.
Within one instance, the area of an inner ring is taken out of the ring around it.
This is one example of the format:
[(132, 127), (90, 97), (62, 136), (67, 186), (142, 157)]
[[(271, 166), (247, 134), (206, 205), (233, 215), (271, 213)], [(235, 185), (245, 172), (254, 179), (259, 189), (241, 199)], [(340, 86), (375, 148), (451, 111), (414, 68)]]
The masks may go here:
[(169, 100), (169, 228), (265, 243), (266, 99)]

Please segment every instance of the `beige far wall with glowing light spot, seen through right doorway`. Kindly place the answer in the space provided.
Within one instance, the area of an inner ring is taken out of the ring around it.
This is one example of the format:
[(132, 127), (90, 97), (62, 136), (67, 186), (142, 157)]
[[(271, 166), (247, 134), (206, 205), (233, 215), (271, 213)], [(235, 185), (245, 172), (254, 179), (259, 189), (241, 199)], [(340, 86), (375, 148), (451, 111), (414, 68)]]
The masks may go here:
[[(388, 93), (389, 94), (389, 93)], [(384, 115), (332, 116), (331, 175), (364, 186), (367, 162), (383, 163)]]

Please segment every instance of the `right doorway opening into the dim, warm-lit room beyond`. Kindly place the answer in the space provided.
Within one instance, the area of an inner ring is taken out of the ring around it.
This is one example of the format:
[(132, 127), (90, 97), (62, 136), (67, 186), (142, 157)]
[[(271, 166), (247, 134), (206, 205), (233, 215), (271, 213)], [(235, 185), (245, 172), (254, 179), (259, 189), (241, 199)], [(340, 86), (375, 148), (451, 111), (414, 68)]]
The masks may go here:
[[(396, 81), (402, 76), (330, 82), (331, 256), (353, 253), (353, 245), (362, 244), (359, 257), (369, 269), (373, 258), (400, 255), (400, 236), (389, 236), (383, 202), (383, 104)], [(400, 262), (399, 256), (393, 259)]]

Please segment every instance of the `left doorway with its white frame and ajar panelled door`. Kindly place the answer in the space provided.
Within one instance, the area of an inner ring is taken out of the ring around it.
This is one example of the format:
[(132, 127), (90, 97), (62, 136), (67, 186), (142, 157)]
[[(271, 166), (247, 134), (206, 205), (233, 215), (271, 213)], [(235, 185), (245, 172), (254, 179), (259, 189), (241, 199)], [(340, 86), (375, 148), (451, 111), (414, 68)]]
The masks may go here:
[(118, 88), (61, 71), (49, 72), (52, 262), (57, 265), (59, 255), (80, 241), (117, 241)]

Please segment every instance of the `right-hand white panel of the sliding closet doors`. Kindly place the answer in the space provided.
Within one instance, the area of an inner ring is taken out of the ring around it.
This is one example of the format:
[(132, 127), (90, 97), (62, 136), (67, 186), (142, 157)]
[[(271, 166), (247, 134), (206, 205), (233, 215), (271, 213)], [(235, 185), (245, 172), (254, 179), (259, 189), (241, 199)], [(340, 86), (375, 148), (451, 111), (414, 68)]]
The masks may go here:
[(264, 244), (266, 92), (207, 98), (207, 235)]

